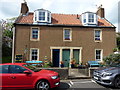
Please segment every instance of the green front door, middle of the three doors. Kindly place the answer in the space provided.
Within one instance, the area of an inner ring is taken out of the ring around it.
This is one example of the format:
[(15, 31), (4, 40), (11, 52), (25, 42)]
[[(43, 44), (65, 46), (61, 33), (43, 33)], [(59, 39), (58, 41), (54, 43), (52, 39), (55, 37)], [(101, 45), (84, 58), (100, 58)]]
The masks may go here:
[(62, 51), (62, 61), (63, 61), (65, 67), (69, 66), (70, 49), (63, 49), (63, 51)]

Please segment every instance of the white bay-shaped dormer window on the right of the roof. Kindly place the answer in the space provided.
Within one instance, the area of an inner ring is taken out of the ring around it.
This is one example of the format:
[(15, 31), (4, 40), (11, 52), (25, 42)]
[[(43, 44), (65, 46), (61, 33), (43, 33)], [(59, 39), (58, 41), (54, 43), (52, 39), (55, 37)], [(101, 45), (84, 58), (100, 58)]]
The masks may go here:
[(81, 21), (84, 26), (97, 26), (98, 18), (96, 13), (85, 12), (81, 15)]

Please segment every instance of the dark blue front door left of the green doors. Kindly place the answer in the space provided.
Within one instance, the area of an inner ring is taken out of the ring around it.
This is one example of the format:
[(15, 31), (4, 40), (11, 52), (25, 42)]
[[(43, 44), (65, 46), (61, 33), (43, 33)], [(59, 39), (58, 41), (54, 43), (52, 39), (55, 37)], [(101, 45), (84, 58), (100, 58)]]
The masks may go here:
[(53, 49), (53, 66), (59, 67), (59, 61), (60, 61), (60, 50), (59, 49)]

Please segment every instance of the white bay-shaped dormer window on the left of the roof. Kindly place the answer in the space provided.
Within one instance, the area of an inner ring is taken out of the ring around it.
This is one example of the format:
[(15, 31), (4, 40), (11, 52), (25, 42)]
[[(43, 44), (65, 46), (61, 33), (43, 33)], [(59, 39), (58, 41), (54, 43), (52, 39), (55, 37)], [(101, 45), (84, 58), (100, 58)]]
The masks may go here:
[(34, 11), (34, 23), (50, 24), (51, 12), (45, 9), (37, 9)]

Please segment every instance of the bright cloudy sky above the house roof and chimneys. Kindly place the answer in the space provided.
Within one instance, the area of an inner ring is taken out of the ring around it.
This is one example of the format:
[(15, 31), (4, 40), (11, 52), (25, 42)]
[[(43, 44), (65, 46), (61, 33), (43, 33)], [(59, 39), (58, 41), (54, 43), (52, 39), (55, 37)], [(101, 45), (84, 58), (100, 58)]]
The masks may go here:
[[(43, 8), (52, 13), (63, 14), (81, 14), (86, 11), (96, 12), (97, 8), (102, 4), (103, 8), (105, 8), (105, 18), (117, 27), (117, 31), (119, 1), (120, 0), (26, 0), (30, 12)], [(24, 0), (0, 0), (0, 20), (19, 16), (22, 2), (24, 2)]]

